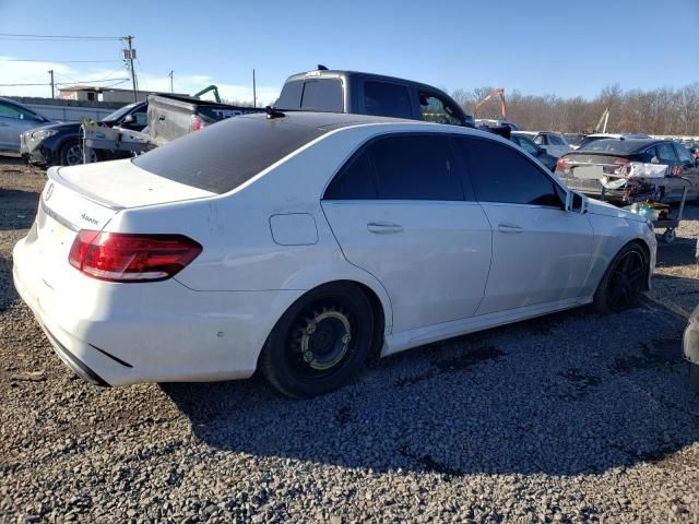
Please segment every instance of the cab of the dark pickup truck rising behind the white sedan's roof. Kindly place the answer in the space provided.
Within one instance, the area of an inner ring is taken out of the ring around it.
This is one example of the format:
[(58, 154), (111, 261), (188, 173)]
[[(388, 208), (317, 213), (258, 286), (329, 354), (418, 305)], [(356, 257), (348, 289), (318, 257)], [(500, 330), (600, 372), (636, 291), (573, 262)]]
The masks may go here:
[(276, 100), (281, 110), (352, 112), (474, 127), (473, 117), (445, 92), (412, 80), (355, 71), (289, 76)]

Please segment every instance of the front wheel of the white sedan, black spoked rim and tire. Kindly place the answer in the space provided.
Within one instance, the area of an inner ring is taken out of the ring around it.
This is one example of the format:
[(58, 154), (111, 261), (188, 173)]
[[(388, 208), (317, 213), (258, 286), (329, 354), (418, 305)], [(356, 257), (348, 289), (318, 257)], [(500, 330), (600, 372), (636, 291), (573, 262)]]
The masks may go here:
[(648, 257), (638, 243), (628, 243), (616, 254), (594, 294), (600, 313), (618, 313), (636, 305), (648, 278)]

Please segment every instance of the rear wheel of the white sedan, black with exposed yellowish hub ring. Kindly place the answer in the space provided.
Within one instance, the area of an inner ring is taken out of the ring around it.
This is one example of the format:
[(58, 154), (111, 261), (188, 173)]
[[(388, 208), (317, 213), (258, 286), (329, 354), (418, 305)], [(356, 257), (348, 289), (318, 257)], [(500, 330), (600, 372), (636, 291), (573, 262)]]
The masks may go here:
[(346, 384), (371, 347), (374, 314), (354, 284), (327, 284), (282, 315), (262, 349), (260, 370), (281, 393), (308, 398)]

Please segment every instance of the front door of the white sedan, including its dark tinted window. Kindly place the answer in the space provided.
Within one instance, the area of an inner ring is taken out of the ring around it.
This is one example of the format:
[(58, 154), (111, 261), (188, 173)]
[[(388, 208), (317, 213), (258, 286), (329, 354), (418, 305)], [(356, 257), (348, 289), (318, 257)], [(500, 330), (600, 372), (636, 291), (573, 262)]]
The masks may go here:
[(476, 138), (460, 145), (493, 227), (493, 263), (477, 314), (580, 296), (592, 252), (588, 217), (564, 211), (565, 190), (517, 148)]

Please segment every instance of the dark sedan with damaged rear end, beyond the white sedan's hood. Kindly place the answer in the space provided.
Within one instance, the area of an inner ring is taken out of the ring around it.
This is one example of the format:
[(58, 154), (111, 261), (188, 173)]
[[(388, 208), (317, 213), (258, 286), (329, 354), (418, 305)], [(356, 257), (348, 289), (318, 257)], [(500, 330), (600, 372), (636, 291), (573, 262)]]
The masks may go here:
[(699, 198), (699, 163), (670, 140), (601, 139), (558, 159), (556, 175), (591, 196), (614, 202), (679, 202)]

